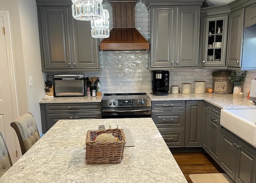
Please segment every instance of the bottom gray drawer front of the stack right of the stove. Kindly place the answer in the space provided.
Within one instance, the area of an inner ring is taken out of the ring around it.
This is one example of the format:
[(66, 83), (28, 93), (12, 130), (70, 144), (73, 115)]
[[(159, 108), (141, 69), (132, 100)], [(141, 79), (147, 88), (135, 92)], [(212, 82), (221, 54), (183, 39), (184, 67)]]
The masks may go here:
[(184, 129), (160, 129), (159, 132), (169, 148), (184, 147)]

